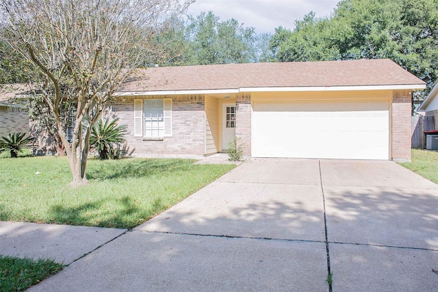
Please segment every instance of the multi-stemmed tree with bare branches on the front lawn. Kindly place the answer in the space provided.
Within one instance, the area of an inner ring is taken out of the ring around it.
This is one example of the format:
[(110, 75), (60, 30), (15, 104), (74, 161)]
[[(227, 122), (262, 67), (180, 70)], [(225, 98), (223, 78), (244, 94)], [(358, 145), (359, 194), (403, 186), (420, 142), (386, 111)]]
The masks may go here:
[[(1, 0), (3, 39), (43, 73), (35, 84), (56, 120), (73, 185), (88, 183), (90, 131), (153, 48), (148, 40), (192, 0)], [(73, 140), (64, 120), (73, 110)]]

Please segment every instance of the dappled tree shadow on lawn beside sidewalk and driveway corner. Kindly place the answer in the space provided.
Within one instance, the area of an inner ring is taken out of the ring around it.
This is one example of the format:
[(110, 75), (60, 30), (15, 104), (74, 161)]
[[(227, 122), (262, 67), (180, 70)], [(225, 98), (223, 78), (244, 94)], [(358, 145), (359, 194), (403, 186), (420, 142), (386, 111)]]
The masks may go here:
[[(105, 208), (105, 204), (111, 200), (118, 200), (116, 210)], [(154, 212), (162, 208), (161, 198), (155, 198), (150, 206), (142, 208), (136, 200), (123, 196), (118, 199), (105, 198), (74, 207), (56, 204), (49, 209), (49, 217), (53, 223), (59, 224), (131, 229), (148, 220)]]

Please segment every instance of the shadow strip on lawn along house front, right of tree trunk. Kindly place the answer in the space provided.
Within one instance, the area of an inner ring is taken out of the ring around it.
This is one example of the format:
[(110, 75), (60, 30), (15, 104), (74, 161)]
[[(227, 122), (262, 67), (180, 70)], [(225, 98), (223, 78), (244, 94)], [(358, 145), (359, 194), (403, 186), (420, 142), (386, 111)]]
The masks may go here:
[[(111, 161), (112, 162), (112, 161)], [(168, 172), (183, 172), (192, 167), (191, 159), (126, 159), (118, 163), (90, 165), (87, 178), (97, 181), (116, 178), (140, 178)]]

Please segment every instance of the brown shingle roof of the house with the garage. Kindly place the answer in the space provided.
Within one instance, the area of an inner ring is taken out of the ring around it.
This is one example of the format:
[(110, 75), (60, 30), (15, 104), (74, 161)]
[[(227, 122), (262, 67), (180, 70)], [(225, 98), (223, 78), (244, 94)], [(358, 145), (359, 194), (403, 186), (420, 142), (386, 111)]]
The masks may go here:
[(425, 83), (390, 59), (148, 68), (120, 92), (300, 88)]

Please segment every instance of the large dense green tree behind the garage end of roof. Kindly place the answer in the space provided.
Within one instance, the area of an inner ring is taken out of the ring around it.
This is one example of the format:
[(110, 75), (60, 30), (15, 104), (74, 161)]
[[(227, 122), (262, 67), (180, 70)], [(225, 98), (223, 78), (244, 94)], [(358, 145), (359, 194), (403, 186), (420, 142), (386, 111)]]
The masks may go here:
[(342, 0), (329, 18), (310, 13), (292, 31), (276, 29), (271, 50), (280, 62), (389, 58), (431, 88), (438, 79), (438, 1)]

